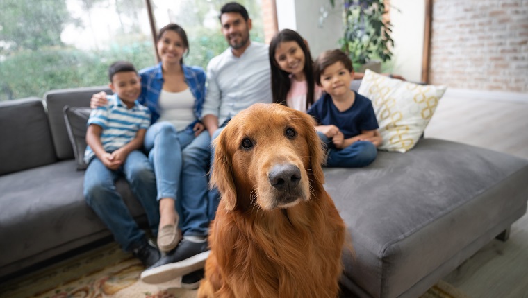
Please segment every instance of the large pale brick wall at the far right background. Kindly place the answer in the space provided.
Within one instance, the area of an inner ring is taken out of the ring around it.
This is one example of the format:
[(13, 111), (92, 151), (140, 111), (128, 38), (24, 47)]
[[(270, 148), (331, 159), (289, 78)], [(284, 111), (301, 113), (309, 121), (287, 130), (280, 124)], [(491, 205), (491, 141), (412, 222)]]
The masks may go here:
[(528, 93), (528, 0), (434, 0), (429, 82)]

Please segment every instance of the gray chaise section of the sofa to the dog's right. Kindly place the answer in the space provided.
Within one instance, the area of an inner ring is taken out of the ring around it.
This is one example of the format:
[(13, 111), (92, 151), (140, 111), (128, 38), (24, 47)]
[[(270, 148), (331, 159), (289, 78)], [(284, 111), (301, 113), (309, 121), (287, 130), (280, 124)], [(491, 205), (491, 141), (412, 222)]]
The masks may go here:
[(528, 160), (438, 139), (324, 173), (352, 234), (345, 276), (360, 296), (399, 297), (477, 238), (497, 236), (528, 198)]

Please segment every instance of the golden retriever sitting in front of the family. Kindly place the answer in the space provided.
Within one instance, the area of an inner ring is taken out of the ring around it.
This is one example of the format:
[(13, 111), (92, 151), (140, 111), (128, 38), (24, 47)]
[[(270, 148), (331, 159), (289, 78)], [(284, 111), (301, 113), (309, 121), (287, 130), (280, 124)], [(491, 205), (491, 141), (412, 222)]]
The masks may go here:
[(337, 297), (345, 223), (308, 114), (256, 104), (215, 140), (222, 199), (198, 297)]

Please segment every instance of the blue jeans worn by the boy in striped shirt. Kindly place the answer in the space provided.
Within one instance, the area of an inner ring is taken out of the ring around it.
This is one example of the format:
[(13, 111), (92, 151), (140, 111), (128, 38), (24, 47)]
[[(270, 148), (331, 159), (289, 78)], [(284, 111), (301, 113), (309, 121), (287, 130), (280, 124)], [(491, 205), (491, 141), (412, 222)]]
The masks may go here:
[(156, 201), (156, 178), (147, 157), (134, 150), (117, 170), (110, 170), (94, 157), (84, 175), (84, 197), (97, 216), (110, 229), (117, 243), (124, 250), (140, 244), (146, 239), (131, 216), (122, 196), (115, 188), (118, 177), (124, 176), (132, 193), (140, 201), (149, 222), (152, 234), (158, 234), (160, 212)]

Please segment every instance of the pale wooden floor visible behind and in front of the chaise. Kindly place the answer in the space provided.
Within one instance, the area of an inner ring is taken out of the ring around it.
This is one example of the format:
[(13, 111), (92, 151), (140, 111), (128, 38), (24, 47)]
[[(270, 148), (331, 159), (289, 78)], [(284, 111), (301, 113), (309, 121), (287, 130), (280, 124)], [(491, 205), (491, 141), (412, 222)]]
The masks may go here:
[[(446, 94), (424, 134), (528, 159), (528, 101)], [(509, 240), (493, 240), (443, 280), (473, 298), (528, 298), (528, 216)]]

